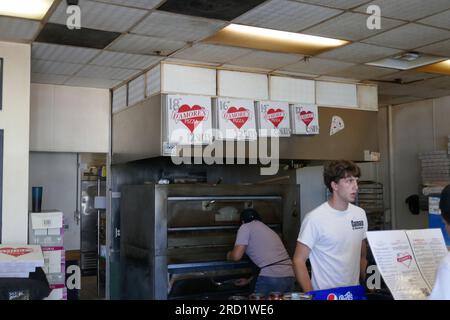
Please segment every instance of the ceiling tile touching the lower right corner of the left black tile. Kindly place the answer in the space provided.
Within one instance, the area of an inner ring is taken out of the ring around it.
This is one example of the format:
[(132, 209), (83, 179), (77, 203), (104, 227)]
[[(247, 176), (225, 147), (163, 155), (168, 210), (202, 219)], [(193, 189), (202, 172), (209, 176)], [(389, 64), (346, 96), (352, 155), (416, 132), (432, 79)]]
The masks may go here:
[(162, 60), (162, 57), (102, 51), (90, 64), (105, 67), (122, 67), (129, 69), (146, 69)]

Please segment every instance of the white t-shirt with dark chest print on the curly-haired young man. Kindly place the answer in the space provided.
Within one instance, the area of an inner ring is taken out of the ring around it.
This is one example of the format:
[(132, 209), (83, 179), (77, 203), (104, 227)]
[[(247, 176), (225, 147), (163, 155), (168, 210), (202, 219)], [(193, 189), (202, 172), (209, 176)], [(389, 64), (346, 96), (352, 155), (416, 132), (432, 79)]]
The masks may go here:
[(297, 241), (311, 249), (314, 290), (359, 284), (361, 242), (366, 232), (366, 213), (352, 204), (339, 211), (325, 202), (305, 216)]

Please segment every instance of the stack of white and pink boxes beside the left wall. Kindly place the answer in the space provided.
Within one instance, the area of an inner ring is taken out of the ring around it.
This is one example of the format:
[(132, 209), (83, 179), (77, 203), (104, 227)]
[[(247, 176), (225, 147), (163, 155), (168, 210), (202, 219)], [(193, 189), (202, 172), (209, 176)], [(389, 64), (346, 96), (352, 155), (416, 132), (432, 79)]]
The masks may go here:
[(47, 300), (67, 300), (65, 287), (65, 251), (63, 245), (63, 213), (32, 212), (29, 223), (29, 243), (40, 245), (44, 255), (42, 269), (52, 289)]

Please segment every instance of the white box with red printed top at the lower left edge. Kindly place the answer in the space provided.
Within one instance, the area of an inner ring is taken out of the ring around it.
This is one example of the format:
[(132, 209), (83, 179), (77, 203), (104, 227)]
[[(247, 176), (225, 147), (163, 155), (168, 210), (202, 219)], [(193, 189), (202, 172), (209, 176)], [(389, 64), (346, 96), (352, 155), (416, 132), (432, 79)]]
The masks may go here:
[(28, 278), (43, 265), (41, 246), (0, 244), (0, 278)]

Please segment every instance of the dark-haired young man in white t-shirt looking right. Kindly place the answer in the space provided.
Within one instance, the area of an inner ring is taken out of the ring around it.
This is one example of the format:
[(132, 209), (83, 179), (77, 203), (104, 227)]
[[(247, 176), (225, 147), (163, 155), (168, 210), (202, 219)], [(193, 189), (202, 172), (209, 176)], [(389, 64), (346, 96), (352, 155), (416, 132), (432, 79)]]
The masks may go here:
[[(358, 193), (359, 167), (346, 160), (324, 167), (328, 201), (309, 212), (300, 228), (294, 271), (304, 292), (358, 285), (365, 276), (367, 217), (351, 204)], [(310, 260), (312, 279), (306, 260)]]

